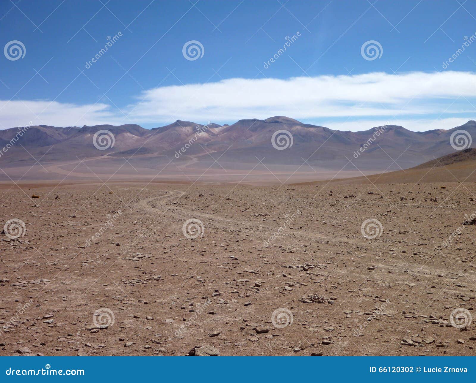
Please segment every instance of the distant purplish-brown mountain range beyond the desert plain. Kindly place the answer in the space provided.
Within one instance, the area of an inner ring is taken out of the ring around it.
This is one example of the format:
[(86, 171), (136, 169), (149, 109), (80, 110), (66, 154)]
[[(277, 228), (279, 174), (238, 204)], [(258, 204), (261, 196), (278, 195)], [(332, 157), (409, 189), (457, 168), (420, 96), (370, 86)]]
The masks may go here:
[[(274, 169), (292, 166), (314, 171), (344, 168), (367, 173), (382, 172), (407, 169), (455, 152), (450, 138), (461, 129), (475, 136), (476, 121), (470, 120), (448, 130), (426, 132), (413, 132), (398, 125), (343, 132), (284, 116), (239, 120), (231, 125), (203, 125), (178, 120), (153, 129), (136, 124), (38, 125), (0, 130), (0, 149), (21, 130), (24, 131), (7, 151), (0, 152), (0, 167), (28, 166), (39, 158), (40, 163), (64, 163), (102, 157), (104, 162), (123, 158), (138, 167), (153, 169), (159, 163), (170, 161), (178, 166), (204, 169), (209, 166), (247, 169), (248, 166), (238, 164), (261, 161)], [(94, 134), (101, 130), (114, 136), (114, 145), (105, 150), (98, 150), (93, 144)], [(272, 137), (281, 130), (292, 135), (292, 145), (277, 150)]]

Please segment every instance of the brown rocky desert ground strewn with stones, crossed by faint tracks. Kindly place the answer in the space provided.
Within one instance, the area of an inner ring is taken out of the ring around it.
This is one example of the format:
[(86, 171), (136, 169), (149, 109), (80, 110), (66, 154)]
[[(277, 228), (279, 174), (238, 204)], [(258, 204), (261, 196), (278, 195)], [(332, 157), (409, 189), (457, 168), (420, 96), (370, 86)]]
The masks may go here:
[(475, 183), (9, 187), (0, 355), (474, 354)]

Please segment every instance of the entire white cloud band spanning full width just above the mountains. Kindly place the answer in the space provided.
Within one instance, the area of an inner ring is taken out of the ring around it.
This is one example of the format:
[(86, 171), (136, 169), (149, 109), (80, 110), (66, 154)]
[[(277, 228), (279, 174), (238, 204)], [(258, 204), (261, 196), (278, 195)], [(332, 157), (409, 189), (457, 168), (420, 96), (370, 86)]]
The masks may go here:
[[(111, 112), (107, 104), (73, 105), (48, 101), (0, 101), (0, 123), (160, 124), (177, 119), (232, 123), (241, 118), (286, 115), (315, 124), (362, 130), (375, 121), (401, 121), (412, 130), (449, 129), (461, 114), (475, 115), (476, 73), (446, 71), (289, 79), (231, 78), (214, 83), (162, 86), (142, 92), (136, 102)], [(126, 117), (127, 115), (127, 117)], [(413, 119), (409, 120), (409, 116)], [(421, 118), (415, 117), (421, 115)], [(427, 115), (439, 116), (431, 122)], [(356, 122), (354, 122), (357, 121)], [(360, 120), (360, 122), (358, 122)], [(364, 121), (365, 120), (365, 121)], [(26, 121), (26, 123), (25, 123)], [(349, 122), (350, 121), (350, 122)], [(443, 124), (450, 124), (445, 125)], [(382, 124), (382, 123), (379, 123)], [(395, 124), (399, 124), (395, 122)], [(428, 126), (427, 126), (428, 125)]]

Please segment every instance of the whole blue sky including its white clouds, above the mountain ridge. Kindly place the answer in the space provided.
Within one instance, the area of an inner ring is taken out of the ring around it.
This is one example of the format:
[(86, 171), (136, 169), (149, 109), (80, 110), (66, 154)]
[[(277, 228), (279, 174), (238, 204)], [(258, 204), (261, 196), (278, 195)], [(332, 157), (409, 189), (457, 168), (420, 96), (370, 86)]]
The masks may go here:
[[(0, 46), (25, 55), (0, 55), (0, 129), (272, 115), (452, 128), (476, 119), (475, 17), (463, 0), (3, 0)], [(381, 56), (363, 57), (367, 41)]]

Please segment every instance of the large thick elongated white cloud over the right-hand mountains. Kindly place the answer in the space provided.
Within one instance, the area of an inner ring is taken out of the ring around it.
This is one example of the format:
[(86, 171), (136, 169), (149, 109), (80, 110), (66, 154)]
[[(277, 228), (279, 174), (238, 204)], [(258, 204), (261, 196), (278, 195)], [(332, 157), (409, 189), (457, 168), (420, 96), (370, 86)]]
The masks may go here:
[[(296, 119), (474, 112), (476, 74), (413, 72), (399, 75), (231, 78), (163, 86), (143, 92), (130, 117), (144, 121), (233, 121), (286, 115)], [(455, 102), (455, 100), (457, 100)]]

